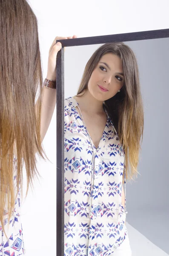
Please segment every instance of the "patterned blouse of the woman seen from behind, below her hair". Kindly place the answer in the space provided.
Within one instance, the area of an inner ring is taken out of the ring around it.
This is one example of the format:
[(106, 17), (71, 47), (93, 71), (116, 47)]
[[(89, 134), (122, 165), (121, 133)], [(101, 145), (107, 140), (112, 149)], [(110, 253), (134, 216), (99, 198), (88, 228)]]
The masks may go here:
[[(17, 157), (13, 158), (14, 173), (17, 171)], [(14, 175), (14, 184), (16, 185), (16, 175)], [(0, 256), (19, 256), (26, 253), (23, 242), (22, 224), (20, 219), (20, 189), (17, 192), (14, 214), (8, 220), (8, 212), (4, 210), (4, 230), (0, 222)], [(8, 227), (9, 225), (9, 227)]]

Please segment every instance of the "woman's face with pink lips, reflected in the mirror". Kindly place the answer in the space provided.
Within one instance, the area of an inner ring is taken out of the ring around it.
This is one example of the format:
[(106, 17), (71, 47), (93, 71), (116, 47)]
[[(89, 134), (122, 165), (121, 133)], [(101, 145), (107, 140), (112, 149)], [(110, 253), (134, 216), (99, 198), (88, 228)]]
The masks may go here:
[(106, 53), (100, 58), (92, 72), (88, 90), (95, 99), (105, 101), (115, 96), (123, 83), (124, 75), (121, 59), (115, 54)]

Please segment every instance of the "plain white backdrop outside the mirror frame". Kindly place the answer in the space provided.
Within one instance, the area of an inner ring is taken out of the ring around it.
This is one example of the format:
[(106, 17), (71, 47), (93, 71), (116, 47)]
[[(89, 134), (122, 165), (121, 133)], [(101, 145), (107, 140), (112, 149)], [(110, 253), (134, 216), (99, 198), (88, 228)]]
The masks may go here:
[[(43, 77), (56, 36), (88, 37), (169, 28), (168, 0), (29, 0), (39, 25)], [(27, 256), (56, 255), (56, 108), (43, 140), (51, 160), (38, 161), (42, 179), (22, 206)]]

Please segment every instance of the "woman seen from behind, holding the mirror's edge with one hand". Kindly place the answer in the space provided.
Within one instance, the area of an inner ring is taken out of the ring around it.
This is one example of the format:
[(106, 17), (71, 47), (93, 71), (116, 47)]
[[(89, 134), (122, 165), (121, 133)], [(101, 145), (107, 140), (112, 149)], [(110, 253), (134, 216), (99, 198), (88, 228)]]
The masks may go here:
[(49, 49), (46, 78), (53, 81), (52, 89), (43, 86), (34, 12), (26, 0), (0, 1), (1, 256), (25, 254), (20, 219), (22, 168), (25, 164), (28, 192), (34, 177), (39, 175), (35, 153), (43, 159), (46, 156), (41, 143), (56, 105), (56, 56), (61, 49), (56, 40), (59, 39), (67, 38), (55, 38)]

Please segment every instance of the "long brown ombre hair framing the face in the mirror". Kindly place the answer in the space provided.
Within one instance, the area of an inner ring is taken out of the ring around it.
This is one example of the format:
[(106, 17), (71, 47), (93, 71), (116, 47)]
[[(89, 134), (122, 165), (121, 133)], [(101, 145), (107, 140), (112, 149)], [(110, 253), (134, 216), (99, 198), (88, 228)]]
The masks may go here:
[[(137, 177), (137, 165), (144, 126), (139, 71), (132, 49), (123, 42), (103, 44), (99, 47), (86, 64), (77, 96), (83, 92), (85, 93), (93, 70), (100, 61), (100, 58), (107, 53), (120, 57), (125, 81), (120, 92), (116, 93), (111, 99), (106, 100), (104, 106), (113, 121), (120, 142), (123, 144), (126, 179), (132, 179), (133, 175)], [(131, 166), (130, 170), (129, 164)]]

